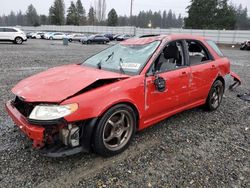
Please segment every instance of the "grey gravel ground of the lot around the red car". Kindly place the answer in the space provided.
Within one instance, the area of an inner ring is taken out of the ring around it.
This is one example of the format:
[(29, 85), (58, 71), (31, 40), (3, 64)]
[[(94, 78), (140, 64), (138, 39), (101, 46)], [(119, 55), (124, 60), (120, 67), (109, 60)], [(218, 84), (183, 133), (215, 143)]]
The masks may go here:
[(81, 62), (106, 48), (61, 41), (0, 44), (0, 187), (250, 187), (250, 52), (224, 49), (243, 85), (226, 92), (216, 112), (177, 114), (136, 134), (112, 158), (79, 154), (52, 159), (30, 148), (4, 110), (10, 89), (25, 77)]

